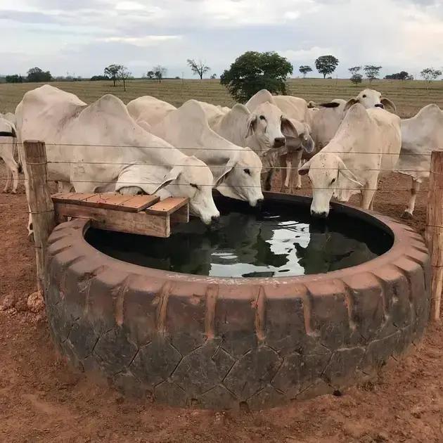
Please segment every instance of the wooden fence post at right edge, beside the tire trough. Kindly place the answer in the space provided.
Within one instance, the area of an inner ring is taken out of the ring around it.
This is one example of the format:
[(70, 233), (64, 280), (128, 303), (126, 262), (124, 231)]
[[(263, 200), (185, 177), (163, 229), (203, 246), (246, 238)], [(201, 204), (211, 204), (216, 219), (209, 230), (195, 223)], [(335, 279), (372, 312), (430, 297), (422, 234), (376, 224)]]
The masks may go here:
[(431, 319), (437, 321), (443, 289), (443, 150), (432, 151), (425, 238), (431, 255)]

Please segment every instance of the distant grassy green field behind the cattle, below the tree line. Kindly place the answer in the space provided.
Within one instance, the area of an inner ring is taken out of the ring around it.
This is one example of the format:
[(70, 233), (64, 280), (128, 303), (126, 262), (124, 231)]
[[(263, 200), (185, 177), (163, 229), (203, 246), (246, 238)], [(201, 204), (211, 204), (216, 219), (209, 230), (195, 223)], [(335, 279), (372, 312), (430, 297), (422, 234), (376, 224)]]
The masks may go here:
[[(127, 91), (122, 85), (115, 88), (112, 82), (53, 82), (68, 92), (79, 96), (86, 103), (91, 103), (103, 94), (114, 94), (128, 103), (139, 96), (155, 96), (173, 105), (181, 105), (190, 98), (207, 101), (216, 105), (233, 105), (231, 96), (219, 80), (164, 80), (162, 83), (153, 80), (134, 80), (127, 84)], [(0, 111), (14, 112), (23, 94), (39, 84), (0, 84)], [(401, 117), (411, 117), (428, 103), (436, 103), (443, 108), (443, 82), (428, 84), (421, 81), (379, 80), (369, 85), (367, 82), (354, 86), (349, 80), (323, 79), (290, 79), (288, 93), (307, 100), (328, 101), (333, 98), (351, 98), (361, 89), (371, 87), (383, 92), (397, 105)]]

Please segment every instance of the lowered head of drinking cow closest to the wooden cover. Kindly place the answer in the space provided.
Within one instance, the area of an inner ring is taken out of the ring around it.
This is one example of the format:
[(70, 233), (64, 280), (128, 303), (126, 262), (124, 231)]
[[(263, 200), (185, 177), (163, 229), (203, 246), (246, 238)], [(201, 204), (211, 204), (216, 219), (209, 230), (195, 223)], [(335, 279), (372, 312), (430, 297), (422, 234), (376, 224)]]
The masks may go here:
[(218, 221), (219, 210), (212, 198), (214, 177), (209, 167), (195, 157), (181, 160), (181, 165), (173, 167), (165, 175), (162, 184), (155, 190), (168, 186), (167, 191), (175, 197), (188, 197), (189, 210), (197, 215), (205, 224)]

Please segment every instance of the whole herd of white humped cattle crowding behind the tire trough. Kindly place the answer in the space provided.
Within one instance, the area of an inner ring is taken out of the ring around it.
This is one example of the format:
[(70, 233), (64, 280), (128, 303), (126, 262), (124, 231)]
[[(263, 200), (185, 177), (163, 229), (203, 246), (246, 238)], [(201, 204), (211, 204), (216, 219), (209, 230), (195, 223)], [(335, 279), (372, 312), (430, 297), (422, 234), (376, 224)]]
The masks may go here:
[(16, 147), (38, 139), (60, 192), (188, 197), (205, 224), (219, 217), (212, 188), (256, 206), (262, 180), (269, 190), (278, 169), (281, 191), (300, 188), (300, 174), (308, 174), (317, 217), (328, 216), (331, 198), (347, 201), (355, 193), (361, 207), (372, 209), (380, 177), (402, 172), (412, 177), (405, 211), (412, 216), (430, 153), (443, 149), (443, 112), (432, 104), (410, 119), (395, 112), (371, 89), (322, 105), (262, 90), (233, 108), (195, 100), (175, 108), (151, 96), (124, 105), (109, 94), (87, 105), (44, 85), (23, 96), (15, 115), (0, 115), (5, 191), (11, 179), (17, 190)]

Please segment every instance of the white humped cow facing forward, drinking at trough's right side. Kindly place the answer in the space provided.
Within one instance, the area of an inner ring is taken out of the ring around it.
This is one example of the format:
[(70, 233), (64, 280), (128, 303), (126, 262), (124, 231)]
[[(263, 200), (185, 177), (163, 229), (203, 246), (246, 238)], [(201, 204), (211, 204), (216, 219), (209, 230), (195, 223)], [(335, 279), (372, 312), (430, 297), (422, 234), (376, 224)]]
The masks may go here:
[(361, 207), (372, 209), (378, 180), (394, 169), (401, 146), (397, 115), (352, 105), (328, 146), (300, 169), (312, 183), (311, 214), (328, 217), (332, 197), (346, 202), (355, 193)]

